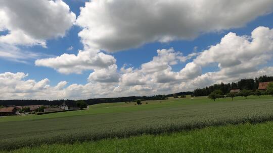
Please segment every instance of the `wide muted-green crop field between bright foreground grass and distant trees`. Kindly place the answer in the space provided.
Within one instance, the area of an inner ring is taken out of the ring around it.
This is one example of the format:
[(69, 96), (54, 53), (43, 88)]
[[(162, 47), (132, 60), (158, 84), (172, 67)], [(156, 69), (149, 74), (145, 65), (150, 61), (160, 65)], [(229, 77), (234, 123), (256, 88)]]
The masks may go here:
[[(273, 99), (270, 96), (250, 96), (247, 100), (236, 97), (235, 101), (224, 98), (215, 102), (206, 97), (194, 97), (147, 103), (98, 104), (90, 106), (89, 110), (2, 117), (0, 149), (12, 150), (41, 144), (75, 143), (273, 120)], [(98, 143), (100, 142), (104, 141)]]

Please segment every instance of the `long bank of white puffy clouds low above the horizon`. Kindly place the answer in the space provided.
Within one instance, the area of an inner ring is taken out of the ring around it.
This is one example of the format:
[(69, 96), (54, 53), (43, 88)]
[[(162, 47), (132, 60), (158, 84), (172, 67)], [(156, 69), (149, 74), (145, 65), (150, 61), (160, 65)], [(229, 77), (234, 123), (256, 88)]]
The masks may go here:
[[(40, 60), (41, 63), (56, 66), (60, 71), (64, 68), (63, 72), (80, 72), (90, 68), (88, 66), (93, 63), (107, 63), (102, 64), (103, 66), (92, 65), (91, 69), (94, 71), (90, 73), (85, 85), (67, 86), (67, 82), (60, 82), (52, 87), (49, 86), (48, 79), (38, 82), (24, 81), (27, 74), (7, 72), (0, 74), (0, 88), (4, 89), (0, 98), (13, 96), (23, 99), (82, 99), (149, 96), (191, 91), (215, 83), (230, 83), (264, 74), (273, 75), (273, 67), (265, 66), (273, 57), (273, 30), (257, 27), (251, 36), (228, 33), (218, 44), (186, 56), (173, 48), (157, 50), (157, 56), (138, 68), (123, 66), (118, 69), (113, 56), (106, 55), (109, 59), (106, 61), (111, 62), (97, 62), (100, 53), (89, 53), (80, 51), (77, 56), (67, 54), (67, 57)], [(82, 67), (75, 67), (75, 63)], [(186, 65), (178, 71), (173, 71), (172, 66), (179, 63)], [(215, 63), (215, 71), (202, 73), (203, 68)], [(86, 65), (88, 66), (83, 68)]]

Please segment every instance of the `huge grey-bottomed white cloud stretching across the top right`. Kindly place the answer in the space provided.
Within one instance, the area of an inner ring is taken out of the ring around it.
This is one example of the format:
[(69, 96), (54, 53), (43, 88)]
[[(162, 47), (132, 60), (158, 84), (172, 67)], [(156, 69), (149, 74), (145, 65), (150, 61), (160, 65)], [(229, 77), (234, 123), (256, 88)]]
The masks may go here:
[(80, 9), (76, 24), (85, 47), (113, 52), (242, 27), (272, 9), (271, 0), (94, 0)]

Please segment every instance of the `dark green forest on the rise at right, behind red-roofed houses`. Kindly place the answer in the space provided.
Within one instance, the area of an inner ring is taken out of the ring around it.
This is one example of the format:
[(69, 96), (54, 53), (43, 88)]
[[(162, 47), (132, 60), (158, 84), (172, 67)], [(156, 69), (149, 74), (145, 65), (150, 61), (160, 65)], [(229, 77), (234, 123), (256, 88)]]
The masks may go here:
[(229, 83), (229, 84), (215, 84), (209, 87), (205, 87), (203, 89), (196, 89), (193, 92), (193, 96), (208, 96), (211, 92), (215, 90), (221, 90), (223, 94), (228, 94), (231, 89), (245, 89), (245, 90), (257, 90), (259, 87), (259, 83), (263, 82), (271, 82), (273, 81), (272, 77), (267, 77), (266, 75), (263, 75), (259, 78), (255, 79), (242, 79), (237, 83)]

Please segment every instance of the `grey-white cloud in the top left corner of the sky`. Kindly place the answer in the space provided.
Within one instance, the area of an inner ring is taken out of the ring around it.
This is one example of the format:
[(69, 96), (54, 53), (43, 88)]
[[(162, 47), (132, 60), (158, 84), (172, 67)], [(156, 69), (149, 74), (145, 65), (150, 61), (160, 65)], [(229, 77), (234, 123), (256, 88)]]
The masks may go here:
[(11, 45), (41, 45), (46, 40), (63, 37), (76, 15), (61, 0), (0, 1), (0, 42)]

